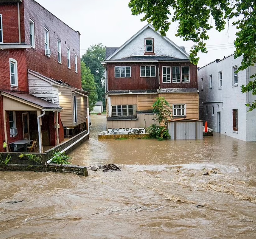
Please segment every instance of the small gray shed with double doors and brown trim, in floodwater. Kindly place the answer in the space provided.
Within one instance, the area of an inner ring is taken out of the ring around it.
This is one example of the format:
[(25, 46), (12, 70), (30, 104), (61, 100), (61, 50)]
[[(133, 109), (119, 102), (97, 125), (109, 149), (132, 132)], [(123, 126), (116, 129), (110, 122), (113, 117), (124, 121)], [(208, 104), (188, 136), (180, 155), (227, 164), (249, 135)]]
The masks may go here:
[(172, 140), (202, 139), (203, 122), (187, 118), (173, 119), (168, 122), (168, 131)]

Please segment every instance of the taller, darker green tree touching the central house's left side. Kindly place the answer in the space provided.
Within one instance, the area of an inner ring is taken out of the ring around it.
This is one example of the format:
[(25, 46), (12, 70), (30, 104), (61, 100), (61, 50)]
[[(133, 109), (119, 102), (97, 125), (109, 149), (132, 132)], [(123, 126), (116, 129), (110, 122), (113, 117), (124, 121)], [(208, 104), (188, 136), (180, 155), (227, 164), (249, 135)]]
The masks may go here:
[[(97, 101), (103, 101), (105, 106), (105, 70), (101, 61), (105, 60), (106, 47), (101, 43), (91, 45), (81, 60), (90, 68), (96, 83)], [(103, 82), (103, 83), (102, 83)]]

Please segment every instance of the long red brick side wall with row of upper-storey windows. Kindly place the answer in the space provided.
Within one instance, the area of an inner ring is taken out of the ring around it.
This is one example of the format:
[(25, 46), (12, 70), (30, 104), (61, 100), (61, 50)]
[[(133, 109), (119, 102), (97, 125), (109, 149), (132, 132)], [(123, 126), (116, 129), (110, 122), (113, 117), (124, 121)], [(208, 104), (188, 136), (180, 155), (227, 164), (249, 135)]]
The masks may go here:
[[(63, 80), (81, 89), (80, 36), (61, 20), (33, 0), (24, 0), (25, 42), (30, 44), (29, 19), (35, 22), (35, 49), (27, 49), (28, 69), (47, 77)], [(49, 30), (52, 55), (44, 55), (44, 28)], [(61, 40), (62, 64), (58, 63), (57, 39)], [(67, 68), (67, 47), (70, 48), (71, 69)], [(75, 72), (75, 54), (77, 69)]]

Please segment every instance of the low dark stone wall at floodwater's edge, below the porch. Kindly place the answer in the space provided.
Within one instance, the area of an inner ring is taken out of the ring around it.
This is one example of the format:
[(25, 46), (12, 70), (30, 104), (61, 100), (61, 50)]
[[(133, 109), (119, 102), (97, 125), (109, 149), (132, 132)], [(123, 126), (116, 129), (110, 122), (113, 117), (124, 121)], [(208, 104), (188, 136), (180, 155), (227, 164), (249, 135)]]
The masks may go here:
[(28, 165), (28, 164), (7, 164), (0, 165), (0, 171), (34, 171), (34, 172), (56, 172), (56, 173), (73, 173), (81, 176), (88, 176), (86, 166), (78, 165), (60, 165), (49, 164), (43, 165)]

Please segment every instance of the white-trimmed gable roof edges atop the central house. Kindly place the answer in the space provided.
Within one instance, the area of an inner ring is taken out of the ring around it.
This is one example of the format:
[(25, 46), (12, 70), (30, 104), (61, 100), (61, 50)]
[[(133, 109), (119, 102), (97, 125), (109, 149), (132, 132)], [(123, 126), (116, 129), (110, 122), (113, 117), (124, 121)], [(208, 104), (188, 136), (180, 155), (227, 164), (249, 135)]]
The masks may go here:
[[(137, 38), (137, 36), (139, 36), (141, 33), (143, 33), (146, 29), (151, 29), (153, 30), (156, 34), (158, 34), (159, 36), (161, 36), (161, 38), (163, 38), (166, 42), (168, 42), (171, 46), (173, 46), (177, 51), (179, 51), (180, 53), (182, 53), (184, 55), (185, 59), (189, 58), (188, 53), (186, 53), (184, 51), (184, 49), (182, 49), (181, 47), (177, 46), (173, 41), (171, 41), (169, 38), (167, 37), (163, 37), (161, 35), (161, 33), (159, 31), (156, 31), (155, 28), (151, 25), (151, 24), (147, 24), (145, 27), (143, 27), (141, 30), (139, 30), (135, 35), (133, 35), (128, 41), (126, 41), (122, 46), (120, 46), (118, 49), (116, 49), (115, 51), (113, 51), (113, 53), (109, 56), (106, 55), (106, 60), (111, 60), (117, 53), (119, 53), (125, 46), (127, 46), (130, 42), (132, 42), (135, 38)], [(111, 48), (116, 48), (116, 47), (111, 47)], [(112, 49), (113, 50), (113, 49)], [(108, 52), (109, 53), (109, 52)]]

